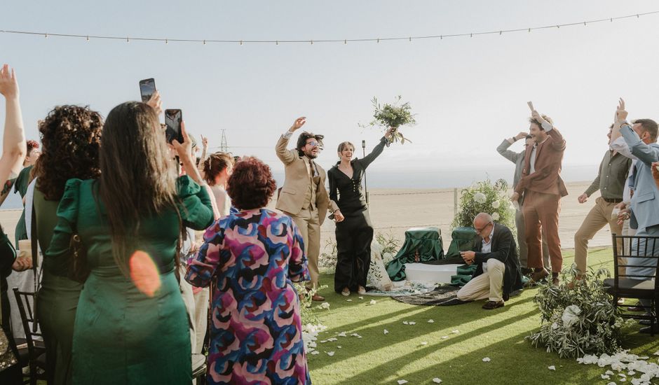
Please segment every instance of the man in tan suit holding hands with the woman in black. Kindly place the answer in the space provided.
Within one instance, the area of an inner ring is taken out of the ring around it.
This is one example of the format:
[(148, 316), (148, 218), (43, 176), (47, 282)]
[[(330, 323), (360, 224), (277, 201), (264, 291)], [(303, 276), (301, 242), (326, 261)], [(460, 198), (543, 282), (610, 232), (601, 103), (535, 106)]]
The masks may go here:
[[(307, 290), (318, 286), (318, 256), (320, 255), (320, 225), (325, 221), (328, 209), (334, 213), (337, 222), (344, 216), (337, 204), (330, 201), (325, 188), (325, 170), (313, 162), (320, 153), (322, 135), (302, 132), (294, 150), (286, 146), (293, 132), (306, 123), (306, 118), (297, 118), (290, 129), (277, 141), (277, 157), (284, 163), (285, 181), (281, 188), (276, 209), (293, 218), (304, 238), (304, 253), (308, 259), (311, 281)], [(325, 298), (315, 294), (314, 301)]]

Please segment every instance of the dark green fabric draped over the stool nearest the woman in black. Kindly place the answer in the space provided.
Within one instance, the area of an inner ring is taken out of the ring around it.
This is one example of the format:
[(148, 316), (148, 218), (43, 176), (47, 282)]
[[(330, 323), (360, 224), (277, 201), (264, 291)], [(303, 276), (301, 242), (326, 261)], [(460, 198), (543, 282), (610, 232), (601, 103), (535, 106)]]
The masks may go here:
[(392, 281), (405, 279), (405, 263), (414, 262), (416, 254), (419, 262), (430, 262), (444, 258), (442, 232), (438, 228), (411, 228), (405, 232), (405, 243), (398, 254), (386, 266)]

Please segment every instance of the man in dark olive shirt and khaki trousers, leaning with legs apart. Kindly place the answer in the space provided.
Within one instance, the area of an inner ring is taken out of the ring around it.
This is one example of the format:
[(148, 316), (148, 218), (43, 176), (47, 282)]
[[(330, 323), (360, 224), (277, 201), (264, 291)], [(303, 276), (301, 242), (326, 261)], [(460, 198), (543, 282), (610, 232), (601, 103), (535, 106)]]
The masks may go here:
[[(611, 125), (611, 128), (613, 125)], [(609, 146), (611, 145), (611, 128), (609, 128)], [(629, 172), (632, 160), (625, 158), (618, 151), (608, 150), (604, 153), (602, 163), (599, 165), (599, 174), (592, 181), (585, 193), (579, 195), (579, 203), (585, 203), (588, 197), (599, 190), (601, 197), (595, 200), (593, 207), (586, 218), (581, 223), (581, 227), (574, 234), (574, 262), (580, 274), (576, 277), (580, 279), (587, 269), (588, 258), (588, 241), (595, 236), (599, 230), (602, 230), (608, 223), (612, 234), (622, 234), (622, 226), (618, 225), (618, 216), (611, 216), (613, 208), (623, 202), (623, 190), (627, 182), (627, 172)], [(620, 245), (622, 246), (622, 245)]]

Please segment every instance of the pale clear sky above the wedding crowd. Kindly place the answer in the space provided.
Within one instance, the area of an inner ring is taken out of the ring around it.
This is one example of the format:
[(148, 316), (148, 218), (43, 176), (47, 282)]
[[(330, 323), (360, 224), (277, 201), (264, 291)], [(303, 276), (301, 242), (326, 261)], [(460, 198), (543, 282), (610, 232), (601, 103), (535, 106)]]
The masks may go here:
[[(6, 1), (0, 29), (318, 40), (526, 28), (654, 10), (659, 3), (650, 0)], [(18, 73), (29, 138), (57, 104), (89, 104), (107, 116), (116, 104), (139, 99), (138, 81), (153, 77), (163, 106), (182, 109), (189, 131), (219, 146), (225, 129), (233, 153), (257, 155), (276, 171), (283, 167), (274, 144), (297, 116), (308, 118), (307, 130), (325, 134), (319, 162), (327, 169), (339, 142), (360, 146), (365, 139), (372, 148), (381, 137), (358, 126), (372, 116), (372, 97), (400, 94), (417, 114), (418, 124), (403, 129), (414, 143), (386, 149), (369, 170), (381, 179), (390, 173), (389, 182), (410, 173), (437, 181), (447, 169), (471, 179), (496, 177), (494, 170), (512, 177), (495, 148), (528, 128), (528, 100), (566, 137), (564, 174), (594, 177), (618, 97), (630, 117), (659, 118), (657, 47), (659, 15), (650, 15), (502, 36), (347, 45), (165, 45), (0, 33), (0, 62)]]

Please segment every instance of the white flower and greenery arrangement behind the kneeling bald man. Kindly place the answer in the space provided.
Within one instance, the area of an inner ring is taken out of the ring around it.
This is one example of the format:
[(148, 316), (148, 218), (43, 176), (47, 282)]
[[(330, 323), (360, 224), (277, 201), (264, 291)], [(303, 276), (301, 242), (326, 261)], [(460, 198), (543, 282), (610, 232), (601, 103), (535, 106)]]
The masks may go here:
[(478, 213), (487, 213), (515, 233), (515, 211), (506, 196), (508, 183), (503, 179), (492, 184), (489, 179), (474, 183), (462, 190), (458, 214), (453, 218), (453, 228), (472, 227)]

